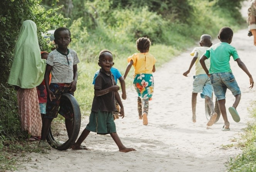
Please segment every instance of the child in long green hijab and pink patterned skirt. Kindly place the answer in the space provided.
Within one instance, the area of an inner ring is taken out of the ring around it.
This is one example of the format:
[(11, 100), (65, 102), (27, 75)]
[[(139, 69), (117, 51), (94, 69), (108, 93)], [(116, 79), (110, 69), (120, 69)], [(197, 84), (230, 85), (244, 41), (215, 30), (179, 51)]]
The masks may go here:
[(30, 140), (39, 140), (41, 136), (42, 119), (36, 86), (44, 79), (45, 66), (45, 60), (40, 56), (37, 26), (26, 20), (15, 45), (8, 84), (17, 88), (21, 128), (31, 136)]

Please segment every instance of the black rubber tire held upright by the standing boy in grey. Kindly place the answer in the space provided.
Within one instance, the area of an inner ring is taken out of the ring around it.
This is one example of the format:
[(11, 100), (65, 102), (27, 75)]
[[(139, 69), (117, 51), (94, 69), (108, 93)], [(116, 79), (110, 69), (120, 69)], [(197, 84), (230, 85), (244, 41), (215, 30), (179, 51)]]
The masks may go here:
[[(71, 137), (69, 139), (67, 139), (67, 141), (65, 141), (65, 142), (64, 141), (56, 141), (57, 137), (56, 137), (56, 134), (52, 133), (51, 126), (50, 126), (49, 132), (47, 133), (47, 136), (46, 136), (47, 142), (53, 148), (58, 149), (60, 151), (69, 149), (76, 142), (77, 136), (80, 131), (80, 126), (81, 126), (81, 112), (80, 112), (79, 104), (76, 101), (76, 99), (74, 98), (74, 96), (72, 96), (71, 94), (68, 94), (68, 93), (62, 94), (61, 101), (66, 101), (67, 105), (72, 107), (72, 110), (74, 113)], [(56, 137), (56, 138), (54, 139), (54, 137)]]

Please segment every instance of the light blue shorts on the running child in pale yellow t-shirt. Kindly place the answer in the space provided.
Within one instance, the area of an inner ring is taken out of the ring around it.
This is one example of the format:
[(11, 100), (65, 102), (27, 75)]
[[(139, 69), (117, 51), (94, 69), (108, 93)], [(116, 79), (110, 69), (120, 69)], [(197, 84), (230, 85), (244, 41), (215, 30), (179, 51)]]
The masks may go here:
[(212, 84), (210, 81), (210, 78), (207, 74), (199, 74), (196, 76), (193, 76), (193, 93), (201, 93), (201, 98), (205, 98), (205, 96), (208, 96), (212, 98)]

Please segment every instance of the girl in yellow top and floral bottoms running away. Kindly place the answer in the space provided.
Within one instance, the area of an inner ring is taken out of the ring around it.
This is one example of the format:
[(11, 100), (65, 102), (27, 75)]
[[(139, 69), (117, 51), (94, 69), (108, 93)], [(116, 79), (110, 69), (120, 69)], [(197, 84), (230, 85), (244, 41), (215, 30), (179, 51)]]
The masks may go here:
[[(139, 119), (143, 119), (143, 125), (148, 124), (148, 101), (152, 99), (154, 90), (154, 79), (152, 72), (155, 72), (155, 57), (148, 53), (150, 40), (142, 37), (136, 41), (137, 50), (140, 53), (135, 53), (128, 57), (128, 65), (125, 70), (124, 79), (129, 73), (131, 66), (134, 67), (133, 86), (138, 93), (138, 113)], [(143, 105), (143, 113), (142, 113)]]

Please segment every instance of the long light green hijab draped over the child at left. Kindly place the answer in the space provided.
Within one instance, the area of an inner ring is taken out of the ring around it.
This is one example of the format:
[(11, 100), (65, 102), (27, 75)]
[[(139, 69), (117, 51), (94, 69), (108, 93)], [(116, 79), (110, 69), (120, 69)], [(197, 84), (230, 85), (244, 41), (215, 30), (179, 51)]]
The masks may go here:
[(19, 38), (15, 45), (8, 84), (20, 88), (38, 86), (44, 79), (45, 62), (40, 55), (37, 26), (33, 21), (26, 20), (22, 23)]

